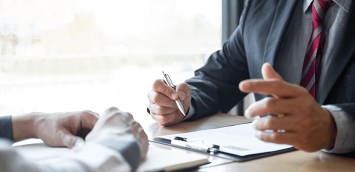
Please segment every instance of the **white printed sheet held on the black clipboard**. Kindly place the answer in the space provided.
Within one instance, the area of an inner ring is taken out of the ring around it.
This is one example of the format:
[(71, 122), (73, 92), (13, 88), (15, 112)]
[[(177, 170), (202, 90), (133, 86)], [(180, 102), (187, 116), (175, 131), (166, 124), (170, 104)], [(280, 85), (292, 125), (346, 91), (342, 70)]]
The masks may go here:
[(251, 123), (230, 127), (208, 129), (204, 131), (164, 135), (165, 139), (184, 137), (189, 141), (203, 142), (208, 145), (219, 145), (220, 150), (230, 154), (246, 156), (291, 148), (291, 145), (267, 143), (255, 137)]

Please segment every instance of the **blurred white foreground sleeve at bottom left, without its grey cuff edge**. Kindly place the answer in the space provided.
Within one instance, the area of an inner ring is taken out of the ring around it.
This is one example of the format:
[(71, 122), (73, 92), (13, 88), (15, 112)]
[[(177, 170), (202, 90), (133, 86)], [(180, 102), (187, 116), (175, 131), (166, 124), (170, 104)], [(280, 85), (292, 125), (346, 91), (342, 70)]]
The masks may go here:
[(129, 163), (107, 146), (88, 143), (76, 146), (72, 154), (38, 162), (26, 160), (10, 143), (0, 140), (1, 172), (130, 172)]

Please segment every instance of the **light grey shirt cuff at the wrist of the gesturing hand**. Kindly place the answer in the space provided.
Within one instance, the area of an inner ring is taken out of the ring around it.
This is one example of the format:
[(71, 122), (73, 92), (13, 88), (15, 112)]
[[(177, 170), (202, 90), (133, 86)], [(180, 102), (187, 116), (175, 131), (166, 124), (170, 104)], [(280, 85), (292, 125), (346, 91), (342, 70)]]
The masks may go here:
[(325, 105), (322, 107), (331, 113), (337, 126), (334, 148), (331, 150), (323, 149), (322, 151), (343, 154), (355, 150), (355, 121), (353, 118), (338, 106)]

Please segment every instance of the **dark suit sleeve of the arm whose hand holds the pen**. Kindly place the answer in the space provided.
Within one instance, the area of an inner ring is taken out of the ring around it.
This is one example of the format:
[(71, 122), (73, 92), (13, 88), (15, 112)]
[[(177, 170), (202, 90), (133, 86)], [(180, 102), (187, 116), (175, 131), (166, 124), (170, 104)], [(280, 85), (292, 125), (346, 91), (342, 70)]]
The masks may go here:
[(239, 83), (250, 78), (243, 43), (243, 27), (250, 2), (222, 50), (214, 52), (206, 65), (195, 71), (195, 77), (185, 81), (191, 88), (191, 105), (195, 110), (189, 120), (228, 112), (246, 95), (239, 90)]

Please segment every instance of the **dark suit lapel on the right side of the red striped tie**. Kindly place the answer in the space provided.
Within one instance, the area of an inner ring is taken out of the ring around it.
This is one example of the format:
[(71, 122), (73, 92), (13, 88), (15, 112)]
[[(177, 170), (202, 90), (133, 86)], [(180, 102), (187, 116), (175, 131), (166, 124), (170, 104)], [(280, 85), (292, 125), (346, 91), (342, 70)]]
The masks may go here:
[(348, 65), (351, 56), (355, 52), (355, 3), (352, 2), (349, 10), (349, 16), (346, 26), (343, 28), (342, 37), (340, 37), (339, 44), (334, 48), (334, 53), (329, 63), (329, 69), (326, 72), (324, 83), (319, 85), (321, 94), (317, 96), (319, 104), (323, 104), (326, 100), (329, 91), (332, 89), (335, 82), (337, 82), (340, 74), (343, 72), (346, 65)]

